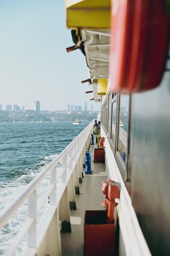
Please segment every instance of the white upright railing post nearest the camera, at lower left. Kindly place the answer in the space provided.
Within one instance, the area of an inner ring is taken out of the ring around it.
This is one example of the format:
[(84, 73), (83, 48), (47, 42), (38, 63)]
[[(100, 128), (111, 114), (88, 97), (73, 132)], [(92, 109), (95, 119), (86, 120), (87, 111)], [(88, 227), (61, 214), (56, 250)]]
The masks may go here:
[(36, 201), (37, 193), (36, 190), (30, 195), (28, 199), (28, 218), (33, 218), (34, 222), (28, 230), (28, 247), (36, 248), (37, 237), (36, 237)]

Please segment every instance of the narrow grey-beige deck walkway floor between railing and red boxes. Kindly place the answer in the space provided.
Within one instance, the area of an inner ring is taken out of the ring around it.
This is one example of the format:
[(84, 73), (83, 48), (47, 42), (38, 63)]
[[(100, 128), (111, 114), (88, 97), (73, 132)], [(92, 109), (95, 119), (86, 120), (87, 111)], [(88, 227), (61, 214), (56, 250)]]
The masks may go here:
[(71, 210), (71, 233), (61, 233), (62, 255), (83, 256), (84, 214), (86, 210), (104, 210), (101, 202), (105, 199), (102, 193), (102, 181), (106, 181), (105, 164), (94, 163), (94, 148), (91, 145), (92, 175), (84, 175), (80, 184), (80, 194), (76, 195), (77, 210)]

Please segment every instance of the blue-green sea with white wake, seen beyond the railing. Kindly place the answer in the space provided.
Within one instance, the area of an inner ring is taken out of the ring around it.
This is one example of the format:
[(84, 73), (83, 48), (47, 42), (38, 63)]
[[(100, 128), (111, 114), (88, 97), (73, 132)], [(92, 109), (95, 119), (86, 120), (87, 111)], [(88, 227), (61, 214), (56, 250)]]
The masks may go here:
[[(0, 123), (0, 212), (13, 202), (26, 185), (36, 177), (87, 124)], [(57, 165), (60, 171), (60, 163)], [(38, 187), (42, 194), (47, 180)], [(0, 232), (0, 255), (22, 227), (27, 217), (27, 203), (19, 208)], [(26, 239), (25, 239), (26, 240)], [(22, 242), (24, 244), (24, 241)], [(21, 246), (18, 253), (22, 251)], [(17, 255), (17, 254), (16, 254)]]

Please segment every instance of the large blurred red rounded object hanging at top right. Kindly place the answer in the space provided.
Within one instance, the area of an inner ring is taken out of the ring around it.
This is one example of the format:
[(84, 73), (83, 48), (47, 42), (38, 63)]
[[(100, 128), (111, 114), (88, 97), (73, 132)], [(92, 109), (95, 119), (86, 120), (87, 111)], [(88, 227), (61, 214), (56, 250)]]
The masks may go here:
[(112, 91), (141, 92), (158, 86), (166, 62), (169, 28), (165, 1), (112, 1)]

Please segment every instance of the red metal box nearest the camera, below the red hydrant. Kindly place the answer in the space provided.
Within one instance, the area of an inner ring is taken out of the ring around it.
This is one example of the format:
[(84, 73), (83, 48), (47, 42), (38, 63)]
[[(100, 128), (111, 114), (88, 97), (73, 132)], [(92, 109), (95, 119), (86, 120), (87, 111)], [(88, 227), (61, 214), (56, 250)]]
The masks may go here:
[(115, 224), (106, 224), (106, 211), (85, 211), (84, 256), (115, 255)]

